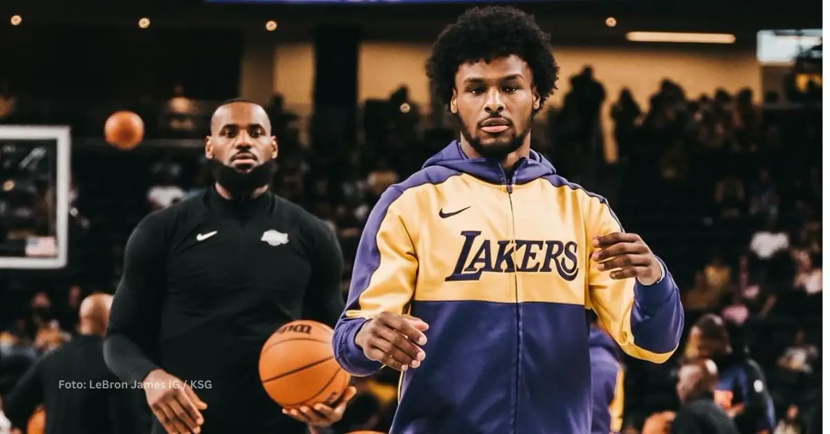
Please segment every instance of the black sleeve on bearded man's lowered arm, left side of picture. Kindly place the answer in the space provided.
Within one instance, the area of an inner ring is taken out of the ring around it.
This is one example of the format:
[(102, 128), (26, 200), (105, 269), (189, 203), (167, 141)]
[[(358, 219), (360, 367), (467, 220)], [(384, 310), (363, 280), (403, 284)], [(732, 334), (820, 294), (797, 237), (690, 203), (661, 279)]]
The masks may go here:
[(104, 340), (110, 371), (141, 382), (159, 368), (153, 355), (159, 339), (164, 296), (164, 226), (158, 212), (139, 222), (127, 240), (124, 274), (115, 290)]

